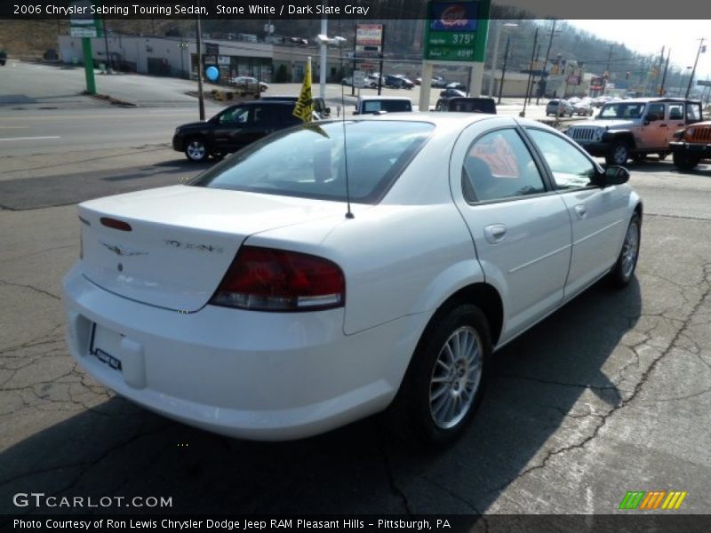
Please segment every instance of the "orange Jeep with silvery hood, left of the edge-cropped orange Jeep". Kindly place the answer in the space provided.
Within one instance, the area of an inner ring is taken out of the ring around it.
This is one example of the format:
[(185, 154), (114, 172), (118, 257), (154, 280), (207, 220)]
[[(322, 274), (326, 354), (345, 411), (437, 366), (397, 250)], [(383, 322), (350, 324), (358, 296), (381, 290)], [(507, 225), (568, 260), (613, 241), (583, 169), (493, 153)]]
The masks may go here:
[(701, 102), (683, 98), (624, 99), (610, 101), (594, 121), (573, 124), (566, 131), (591, 155), (608, 164), (625, 164), (669, 154), (675, 131), (701, 121)]

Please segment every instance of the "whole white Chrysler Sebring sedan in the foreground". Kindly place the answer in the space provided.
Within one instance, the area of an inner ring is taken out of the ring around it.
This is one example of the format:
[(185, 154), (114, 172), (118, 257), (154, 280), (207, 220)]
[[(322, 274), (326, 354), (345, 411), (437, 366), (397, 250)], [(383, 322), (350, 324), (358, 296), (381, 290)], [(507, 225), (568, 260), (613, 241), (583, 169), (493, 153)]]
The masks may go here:
[(510, 116), (303, 124), (188, 185), (80, 204), (68, 344), (117, 393), (217, 433), (386, 410), (449, 442), (496, 348), (601, 277), (630, 281), (628, 178)]

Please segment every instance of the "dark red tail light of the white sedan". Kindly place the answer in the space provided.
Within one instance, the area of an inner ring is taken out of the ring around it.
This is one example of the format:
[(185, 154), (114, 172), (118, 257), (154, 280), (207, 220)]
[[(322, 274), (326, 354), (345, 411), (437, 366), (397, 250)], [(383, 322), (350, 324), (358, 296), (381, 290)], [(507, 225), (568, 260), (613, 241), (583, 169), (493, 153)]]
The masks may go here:
[(243, 246), (211, 304), (257, 311), (313, 311), (343, 306), (343, 271), (296, 251)]

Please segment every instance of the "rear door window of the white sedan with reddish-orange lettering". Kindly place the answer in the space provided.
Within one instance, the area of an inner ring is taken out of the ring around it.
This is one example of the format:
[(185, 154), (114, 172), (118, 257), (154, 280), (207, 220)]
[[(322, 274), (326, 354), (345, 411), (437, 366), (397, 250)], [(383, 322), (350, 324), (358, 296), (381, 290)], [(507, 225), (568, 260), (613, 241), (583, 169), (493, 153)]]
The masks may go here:
[(546, 190), (531, 153), (513, 129), (491, 131), (467, 150), (462, 192), (467, 202), (535, 195)]

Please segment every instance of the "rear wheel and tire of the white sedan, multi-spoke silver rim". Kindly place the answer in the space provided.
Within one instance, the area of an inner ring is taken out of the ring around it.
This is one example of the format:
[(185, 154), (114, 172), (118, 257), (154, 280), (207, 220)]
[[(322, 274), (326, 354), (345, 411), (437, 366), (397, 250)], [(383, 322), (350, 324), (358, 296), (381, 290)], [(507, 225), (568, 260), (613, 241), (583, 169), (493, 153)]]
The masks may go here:
[(426, 449), (454, 442), (481, 401), (490, 359), (489, 322), (479, 307), (437, 312), (386, 411), (388, 426)]

